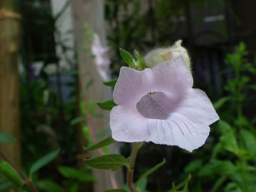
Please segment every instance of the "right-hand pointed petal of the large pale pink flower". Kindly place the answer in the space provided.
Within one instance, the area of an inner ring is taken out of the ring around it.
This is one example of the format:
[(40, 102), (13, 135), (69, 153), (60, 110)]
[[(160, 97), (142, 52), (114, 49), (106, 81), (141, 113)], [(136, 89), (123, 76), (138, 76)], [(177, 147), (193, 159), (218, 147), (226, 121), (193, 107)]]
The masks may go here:
[(191, 89), (183, 100), (177, 101), (177, 106), (172, 116), (187, 121), (210, 125), (220, 119), (212, 102), (200, 89)]

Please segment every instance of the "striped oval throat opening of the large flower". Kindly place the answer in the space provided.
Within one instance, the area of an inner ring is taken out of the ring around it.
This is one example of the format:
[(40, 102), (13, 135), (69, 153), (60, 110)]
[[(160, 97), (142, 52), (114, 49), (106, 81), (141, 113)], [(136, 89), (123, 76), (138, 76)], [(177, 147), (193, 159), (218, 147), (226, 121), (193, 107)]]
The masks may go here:
[(171, 112), (177, 106), (170, 96), (163, 92), (149, 92), (136, 104), (138, 112), (148, 119), (168, 119)]

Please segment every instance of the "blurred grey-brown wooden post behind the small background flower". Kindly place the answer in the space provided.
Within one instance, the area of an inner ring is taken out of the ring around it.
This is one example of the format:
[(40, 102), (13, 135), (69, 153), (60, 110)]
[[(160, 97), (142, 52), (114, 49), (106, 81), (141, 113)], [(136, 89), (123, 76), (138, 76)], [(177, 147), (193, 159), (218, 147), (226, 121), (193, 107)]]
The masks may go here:
[[(73, 16), (74, 16), (74, 31), (76, 38), (77, 58), (82, 60), (79, 63), (78, 68), (80, 71), (80, 91), (86, 93), (87, 98), (103, 102), (112, 99), (112, 89), (104, 86), (102, 79), (100, 78), (94, 60), (90, 57), (92, 54), (90, 50), (85, 51), (82, 48), (90, 46), (91, 42), (88, 42), (85, 38), (84, 24), (87, 23), (90, 27), (91, 32), (98, 34), (102, 46), (106, 46), (106, 32), (104, 23), (104, 11), (102, 0), (73, 0)], [(89, 75), (85, 75), (85, 72), (90, 72)], [(86, 90), (86, 84), (93, 78), (94, 82), (92, 86)], [(97, 119), (93, 118), (94, 132), (109, 127), (109, 111), (104, 111), (96, 106), (96, 113), (103, 114), (104, 118)], [(99, 138), (98, 141), (102, 140)], [(80, 143), (83, 141), (80, 140)], [(118, 143), (110, 146), (110, 153), (117, 154)], [(92, 152), (92, 157), (100, 156), (97, 151)], [(108, 170), (97, 170), (93, 169), (93, 174), (97, 178), (97, 182), (94, 184), (94, 192), (102, 192), (110, 190), (112, 184)], [(117, 185), (119, 188), (123, 184), (122, 171), (118, 170), (114, 172)]]

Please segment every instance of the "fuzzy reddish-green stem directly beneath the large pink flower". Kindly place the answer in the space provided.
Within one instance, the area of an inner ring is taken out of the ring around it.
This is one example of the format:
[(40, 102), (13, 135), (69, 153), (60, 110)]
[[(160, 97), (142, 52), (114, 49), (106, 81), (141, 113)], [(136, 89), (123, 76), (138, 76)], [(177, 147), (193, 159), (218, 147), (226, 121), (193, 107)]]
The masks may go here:
[(130, 162), (129, 162), (130, 169), (128, 169), (127, 171), (127, 186), (131, 192), (136, 192), (136, 190), (134, 190), (132, 186), (132, 177), (133, 177), (135, 158), (136, 158), (138, 149), (142, 146), (142, 143), (134, 142), (132, 144), (133, 144), (133, 147), (132, 147), (132, 152), (131, 152)]

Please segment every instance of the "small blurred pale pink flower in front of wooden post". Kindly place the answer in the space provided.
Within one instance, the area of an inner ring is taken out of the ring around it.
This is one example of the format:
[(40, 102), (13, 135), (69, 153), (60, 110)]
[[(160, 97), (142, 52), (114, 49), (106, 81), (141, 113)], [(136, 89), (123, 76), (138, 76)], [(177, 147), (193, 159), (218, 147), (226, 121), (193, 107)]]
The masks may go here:
[(94, 34), (94, 40), (92, 42), (92, 54), (95, 56), (94, 62), (97, 67), (97, 71), (100, 74), (103, 81), (109, 81), (109, 66), (110, 60), (104, 58), (105, 53), (110, 49), (109, 47), (103, 48), (100, 44), (100, 38), (97, 34)]

